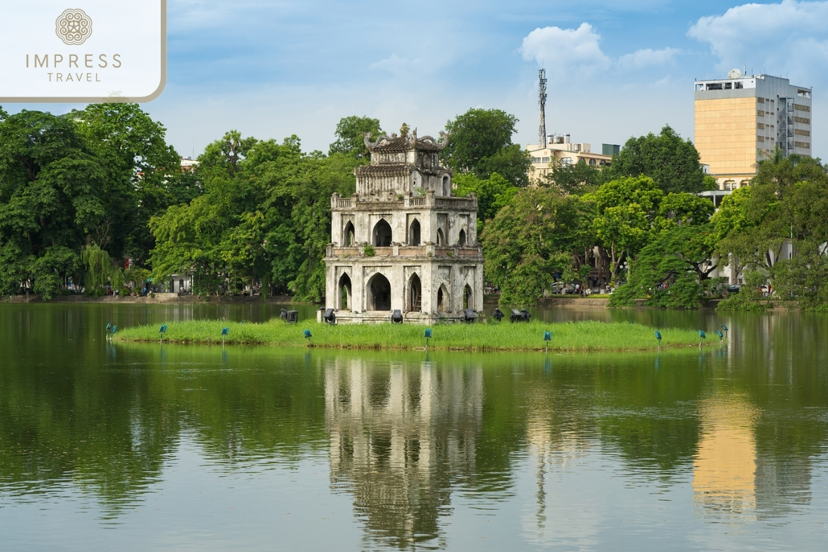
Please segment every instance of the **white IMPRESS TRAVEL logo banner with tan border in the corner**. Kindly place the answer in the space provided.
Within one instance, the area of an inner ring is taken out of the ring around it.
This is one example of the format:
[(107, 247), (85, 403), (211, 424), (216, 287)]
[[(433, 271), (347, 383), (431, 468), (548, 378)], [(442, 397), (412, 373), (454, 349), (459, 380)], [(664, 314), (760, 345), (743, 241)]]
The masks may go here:
[(166, 0), (0, 0), (0, 102), (149, 102), (166, 84)]

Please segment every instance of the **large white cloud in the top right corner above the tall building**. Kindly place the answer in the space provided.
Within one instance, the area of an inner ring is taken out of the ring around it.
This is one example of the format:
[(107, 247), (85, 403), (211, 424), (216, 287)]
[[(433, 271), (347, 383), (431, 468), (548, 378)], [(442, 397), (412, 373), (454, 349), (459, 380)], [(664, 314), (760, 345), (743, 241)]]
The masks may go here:
[[(702, 17), (688, 35), (710, 44), (719, 70), (743, 64), (754, 72), (820, 79), (828, 62), (828, 2), (783, 0), (744, 4)], [(803, 83), (807, 84), (807, 83)]]

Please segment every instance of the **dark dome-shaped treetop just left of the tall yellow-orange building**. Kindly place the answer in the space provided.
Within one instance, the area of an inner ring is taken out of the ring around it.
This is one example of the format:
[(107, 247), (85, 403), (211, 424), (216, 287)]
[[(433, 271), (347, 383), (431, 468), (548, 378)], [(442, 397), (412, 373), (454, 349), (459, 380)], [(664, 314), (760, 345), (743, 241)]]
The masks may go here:
[(690, 140), (681, 140), (669, 125), (658, 136), (650, 132), (630, 138), (619, 155), (613, 157), (610, 175), (649, 176), (665, 194), (695, 194), (706, 186), (696, 146)]

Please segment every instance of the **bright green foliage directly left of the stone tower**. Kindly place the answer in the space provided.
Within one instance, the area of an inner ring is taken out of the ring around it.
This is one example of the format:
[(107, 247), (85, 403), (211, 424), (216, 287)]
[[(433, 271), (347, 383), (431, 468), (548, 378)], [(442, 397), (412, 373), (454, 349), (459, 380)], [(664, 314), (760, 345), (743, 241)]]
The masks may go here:
[[(225, 147), (222, 143), (236, 144)], [(243, 152), (243, 158), (233, 156)], [(224, 159), (219, 157), (224, 156)], [(330, 195), (354, 193), (354, 156), (303, 154), (296, 136), (281, 144), (229, 132), (208, 146), (205, 193), (149, 223), (153, 276), (192, 271), (200, 294), (239, 293), (260, 280), (297, 300), (325, 293), (322, 257), (330, 242)]]

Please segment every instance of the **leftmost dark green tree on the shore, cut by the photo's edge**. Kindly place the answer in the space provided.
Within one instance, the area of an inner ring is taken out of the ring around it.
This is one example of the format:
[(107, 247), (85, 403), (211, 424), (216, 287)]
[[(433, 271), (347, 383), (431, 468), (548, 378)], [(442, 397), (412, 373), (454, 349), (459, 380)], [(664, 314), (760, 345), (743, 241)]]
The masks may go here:
[(28, 282), (49, 298), (77, 276), (80, 247), (104, 233), (106, 174), (70, 118), (23, 110), (0, 122), (0, 293)]

